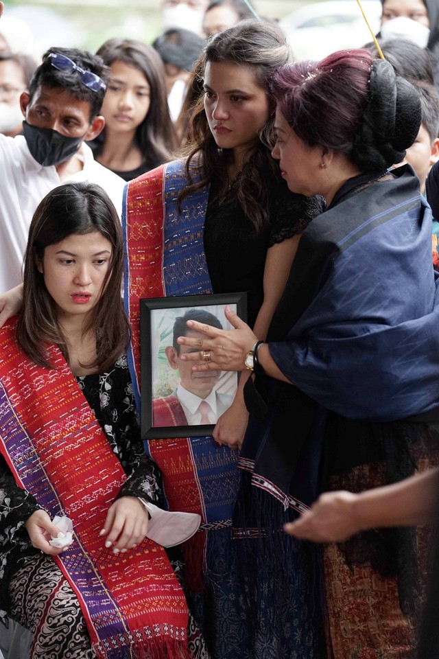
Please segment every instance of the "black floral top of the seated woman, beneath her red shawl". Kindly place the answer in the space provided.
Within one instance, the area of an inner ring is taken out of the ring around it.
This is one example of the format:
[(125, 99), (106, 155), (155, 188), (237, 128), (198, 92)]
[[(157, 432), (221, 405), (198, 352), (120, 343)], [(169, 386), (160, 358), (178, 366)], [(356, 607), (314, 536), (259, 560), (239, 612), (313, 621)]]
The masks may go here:
[[(108, 373), (76, 379), (128, 476), (118, 498), (140, 496), (156, 502), (160, 473), (143, 450), (126, 357), (117, 360)], [(32, 546), (24, 527), (38, 509), (40, 505), (32, 494), (16, 485), (5, 459), (0, 456), (0, 619), (8, 612), (8, 584), (14, 571), (25, 557), (40, 551)]]

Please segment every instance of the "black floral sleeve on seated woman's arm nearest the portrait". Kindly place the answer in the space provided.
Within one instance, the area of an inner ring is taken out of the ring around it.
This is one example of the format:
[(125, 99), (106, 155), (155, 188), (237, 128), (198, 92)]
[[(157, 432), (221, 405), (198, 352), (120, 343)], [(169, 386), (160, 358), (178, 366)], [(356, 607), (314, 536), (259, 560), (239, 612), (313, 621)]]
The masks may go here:
[(161, 492), (161, 475), (143, 448), (126, 356), (117, 360), (108, 373), (85, 375), (77, 380), (128, 476), (118, 498), (139, 496), (156, 502)]

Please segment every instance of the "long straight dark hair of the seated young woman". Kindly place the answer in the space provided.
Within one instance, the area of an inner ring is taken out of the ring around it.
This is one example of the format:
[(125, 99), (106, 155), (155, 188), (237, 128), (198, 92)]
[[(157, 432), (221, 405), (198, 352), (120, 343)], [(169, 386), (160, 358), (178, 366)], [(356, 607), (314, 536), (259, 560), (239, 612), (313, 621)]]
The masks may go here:
[(49, 294), (44, 276), (38, 270), (45, 248), (58, 244), (69, 235), (102, 233), (112, 245), (110, 267), (101, 297), (90, 314), (84, 334), (95, 332), (97, 358), (83, 365), (103, 373), (123, 354), (130, 327), (121, 299), (123, 273), (123, 235), (121, 222), (112, 201), (94, 183), (64, 183), (40, 201), (29, 228), (25, 253), (23, 308), (16, 325), (19, 344), (36, 364), (51, 367), (46, 346), (58, 345), (69, 362), (67, 340), (58, 323), (56, 303)]

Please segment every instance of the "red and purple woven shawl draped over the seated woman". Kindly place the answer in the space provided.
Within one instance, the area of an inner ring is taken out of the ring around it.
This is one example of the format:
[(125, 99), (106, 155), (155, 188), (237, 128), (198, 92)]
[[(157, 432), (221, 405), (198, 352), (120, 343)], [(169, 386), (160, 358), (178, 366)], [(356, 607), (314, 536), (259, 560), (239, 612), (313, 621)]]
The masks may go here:
[(0, 450), (16, 483), (75, 541), (54, 560), (78, 596), (99, 658), (187, 658), (185, 596), (163, 547), (145, 539), (113, 554), (99, 531), (126, 474), (57, 347), (36, 366), (0, 330)]

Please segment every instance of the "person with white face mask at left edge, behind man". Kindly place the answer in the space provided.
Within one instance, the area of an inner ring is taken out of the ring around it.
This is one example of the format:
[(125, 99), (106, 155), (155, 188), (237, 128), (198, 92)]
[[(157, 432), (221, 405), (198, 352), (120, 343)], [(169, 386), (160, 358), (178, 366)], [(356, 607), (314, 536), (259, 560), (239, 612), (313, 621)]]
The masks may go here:
[(15, 137), (23, 132), (20, 96), (27, 91), (36, 61), (25, 54), (0, 53), (0, 132)]

